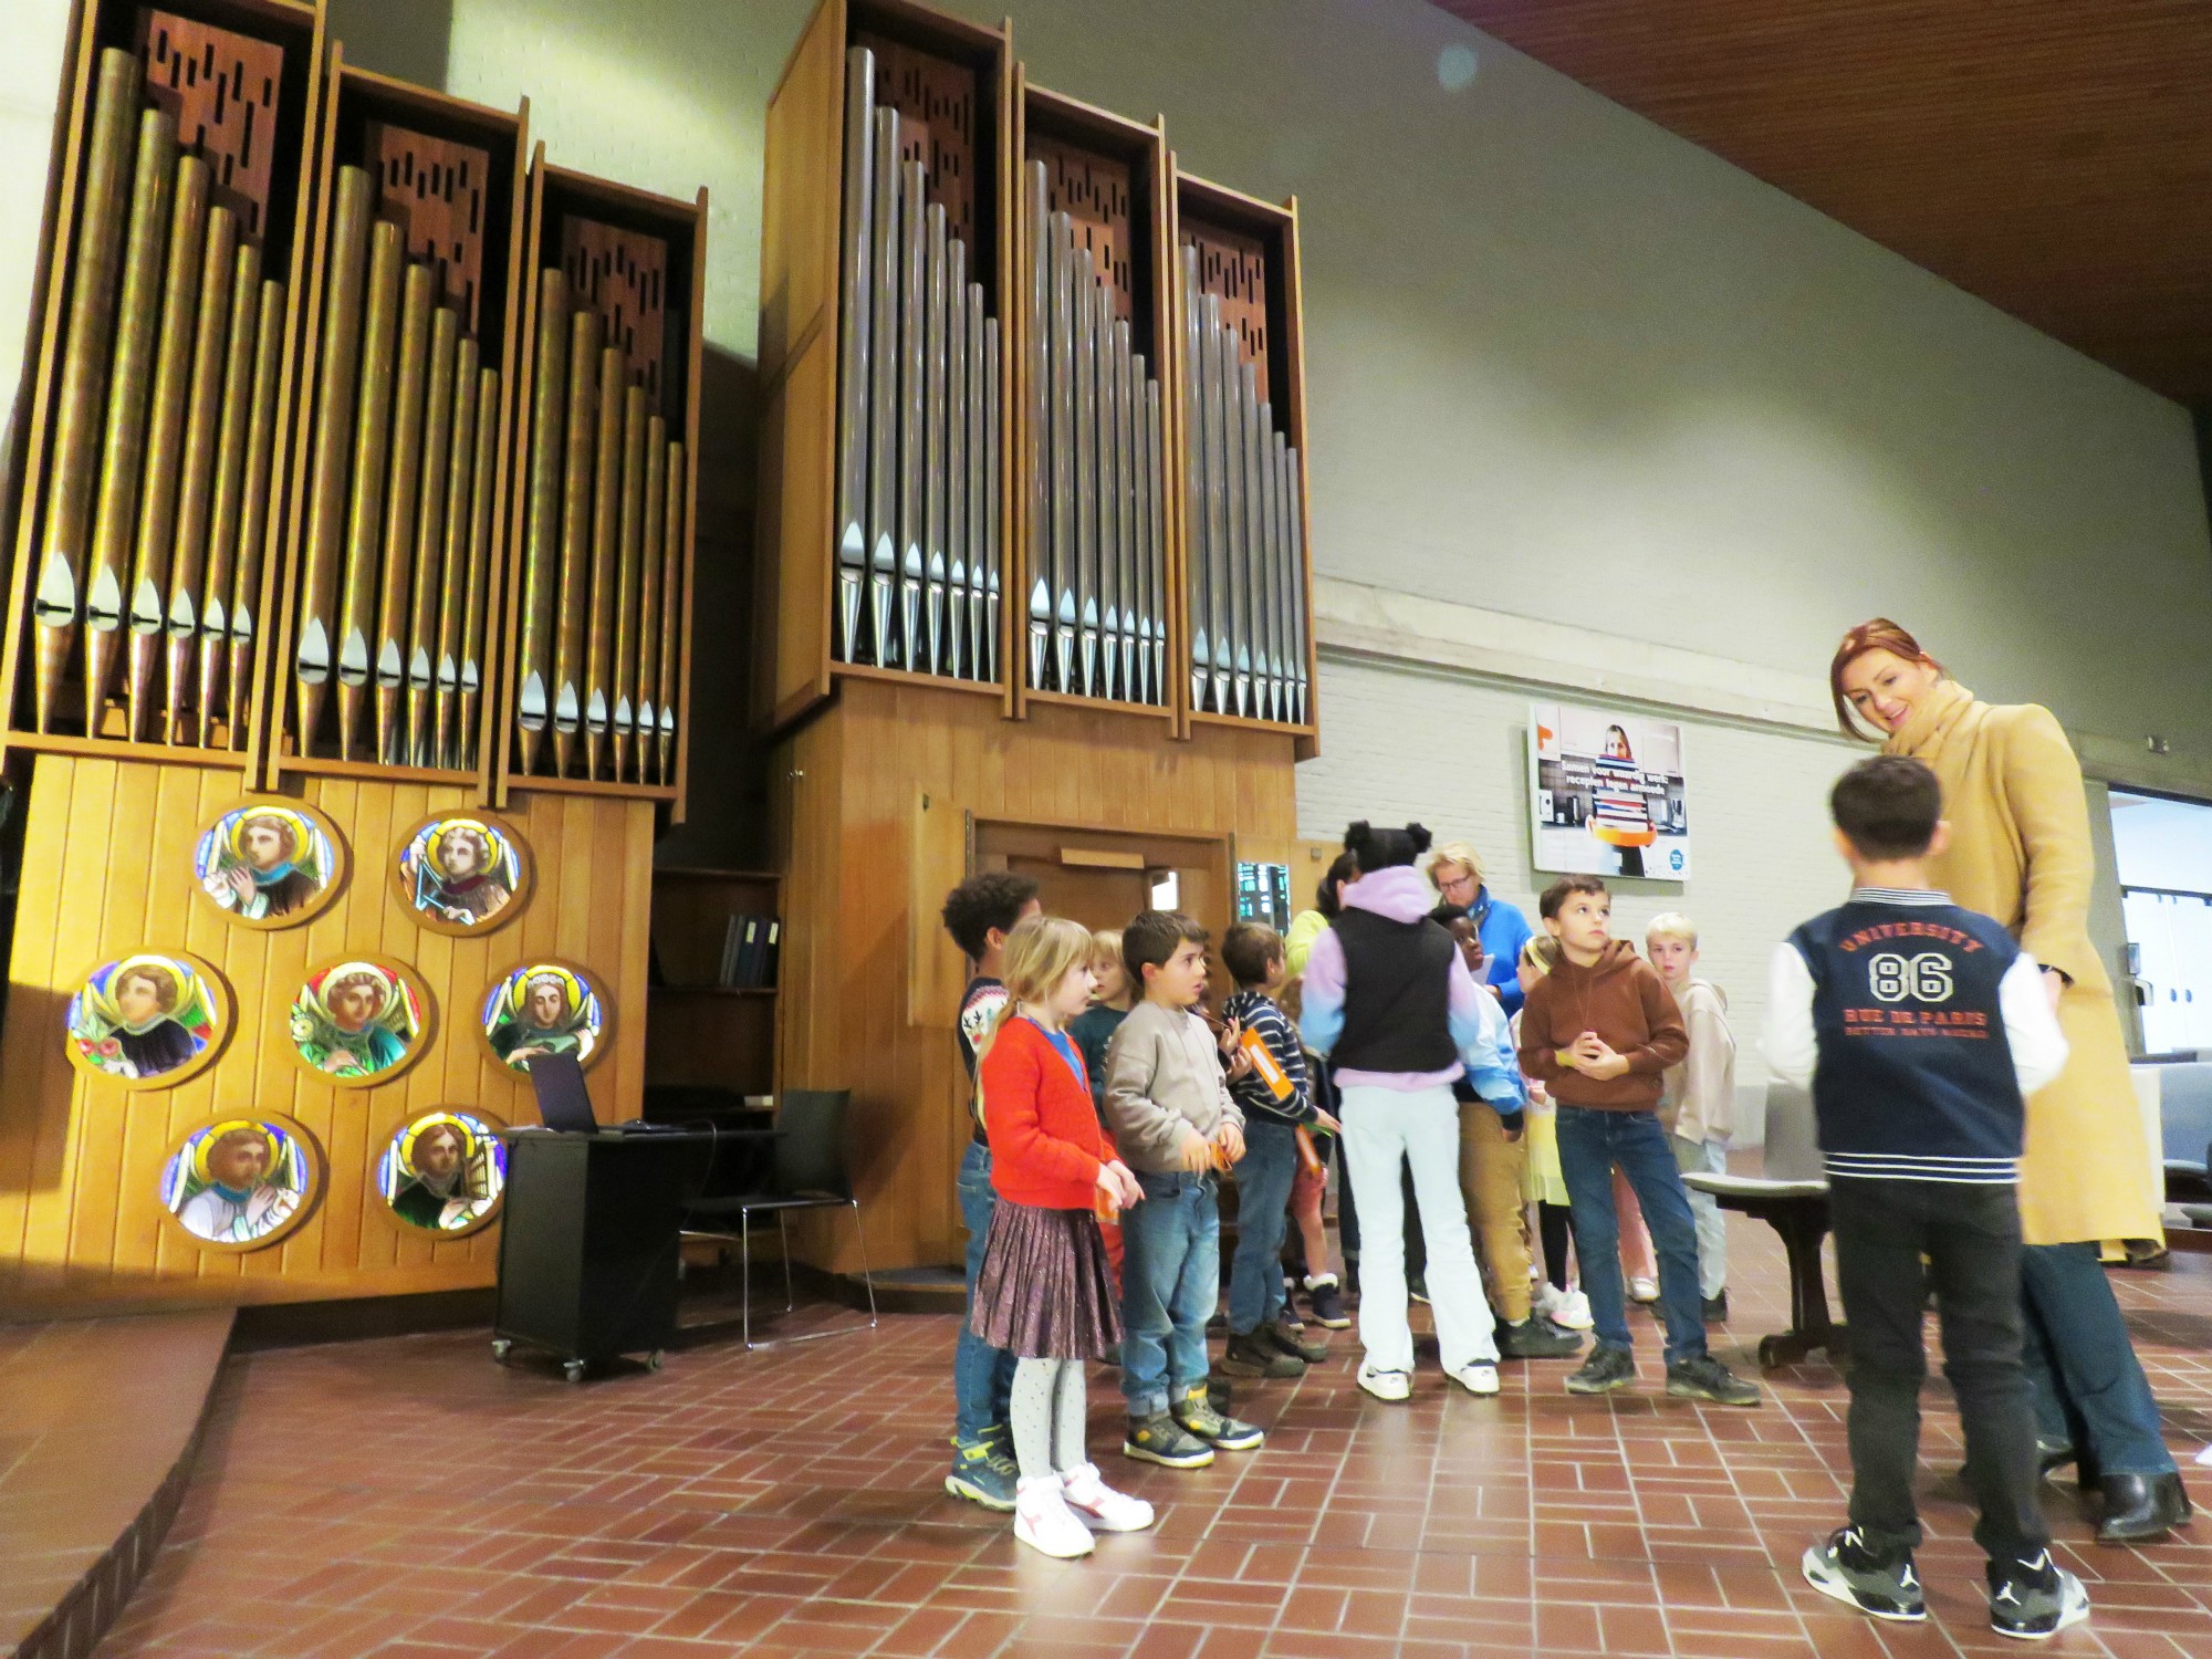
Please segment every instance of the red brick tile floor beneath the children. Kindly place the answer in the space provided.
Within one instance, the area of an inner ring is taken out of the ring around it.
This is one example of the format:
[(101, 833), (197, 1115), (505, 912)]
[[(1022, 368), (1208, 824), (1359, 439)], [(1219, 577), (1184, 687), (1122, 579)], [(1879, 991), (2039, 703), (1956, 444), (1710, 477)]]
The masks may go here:
[[(1732, 1221), (1723, 1358), (1783, 1318), (1781, 1252)], [(2177, 1451), (2212, 1431), (2212, 1259), (2124, 1274)], [(836, 1314), (841, 1316), (841, 1314)], [(1559, 1389), (1506, 1367), (1498, 1400), (1420, 1376), (1385, 1407), (1352, 1334), (1241, 1409), (1263, 1451), (1208, 1471), (1108, 1455), (1119, 1398), (1093, 1380), (1093, 1449), (1161, 1509), (1146, 1535), (1048, 1562), (942, 1495), (953, 1321), (745, 1354), (734, 1343), (568, 1387), (500, 1369), (482, 1336), (232, 1360), (199, 1478), (102, 1655), (699, 1659), (701, 1655), (1683, 1655), (1936, 1659), (2017, 1652), (1984, 1624), (1969, 1513), (1924, 1433), (1933, 1619), (1876, 1626), (1798, 1577), (1840, 1524), (1845, 1391), (1825, 1363), (1759, 1411)], [(2212, 1478), (2199, 1475), (2212, 1495)], [(2062, 1655), (2212, 1659), (2212, 1515), (2185, 1542), (2110, 1551), (2048, 1486), (2093, 1621)]]

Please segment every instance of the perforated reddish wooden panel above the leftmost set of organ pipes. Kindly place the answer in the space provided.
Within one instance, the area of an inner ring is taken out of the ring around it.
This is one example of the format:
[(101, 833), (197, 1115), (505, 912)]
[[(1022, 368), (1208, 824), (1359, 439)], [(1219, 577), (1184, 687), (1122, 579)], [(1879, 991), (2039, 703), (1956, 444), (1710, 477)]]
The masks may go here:
[(215, 168), (215, 199), (259, 241), (276, 157), (283, 46), (150, 7), (137, 15), (137, 46), (146, 97), (177, 117), (177, 142)]

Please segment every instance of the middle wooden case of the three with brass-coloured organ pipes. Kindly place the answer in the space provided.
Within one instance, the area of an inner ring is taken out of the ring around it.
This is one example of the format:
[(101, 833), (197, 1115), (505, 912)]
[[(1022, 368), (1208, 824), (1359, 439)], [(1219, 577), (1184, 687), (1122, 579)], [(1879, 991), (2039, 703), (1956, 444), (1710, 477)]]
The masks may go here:
[(489, 792), (526, 135), (332, 53), (272, 774)]

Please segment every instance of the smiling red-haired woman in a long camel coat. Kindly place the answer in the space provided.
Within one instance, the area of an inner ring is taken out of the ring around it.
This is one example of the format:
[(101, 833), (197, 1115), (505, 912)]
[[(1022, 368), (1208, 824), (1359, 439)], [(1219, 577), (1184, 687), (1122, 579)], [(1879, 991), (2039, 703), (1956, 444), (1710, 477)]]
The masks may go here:
[(2077, 1462), (2104, 1493), (2099, 1542), (2159, 1537), (2190, 1502), (2097, 1261), (2101, 1239), (2157, 1239), (2161, 1223), (2112, 982), (2088, 940), (2081, 765), (2051, 710), (1978, 701), (1882, 617), (1845, 635), (1829, 688), (1845, 734), (1880, 732), (1887, 754), (1942, 779), (1951, 845), (1931, 878), (2004, 922), (2057, 1000), (2070, 1055), (2028, 1102), (2020, 1161), (2024, 1360), (2046, 1467)]

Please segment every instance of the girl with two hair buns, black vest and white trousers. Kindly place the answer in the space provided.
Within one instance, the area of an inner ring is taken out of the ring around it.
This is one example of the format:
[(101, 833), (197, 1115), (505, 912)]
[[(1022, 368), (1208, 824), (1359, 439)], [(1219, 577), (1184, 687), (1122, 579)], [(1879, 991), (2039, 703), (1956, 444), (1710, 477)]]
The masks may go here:
[(1498, 998), (1475, 987), (1451, 933), (1429, 918), (1429, 883), (1413, 869), (1427, 849), (1418, 823), (1374, 830), (1363, 821), (1345, 832), (1345, 852), (1365, 874), (1343, 889), (1343, 916), (1314, 940), (1301, 989), (1298, 1035), (1332, 1060), (1343, 1099), (1345, 1168), (1365, 1234), (1358, 1385), (1378, 1400), (1405, 1400), (1413, 1387), (1398, 1192), (1407, 1159), (1444, 1371), (1471, 1394), (1498, 1394), (1498, 1338), (1460, 1197), (1451, 1084), (1464, 1073), (1493, 1110), (1517, 1110), (1520, 1075), (1500, 1055)]

